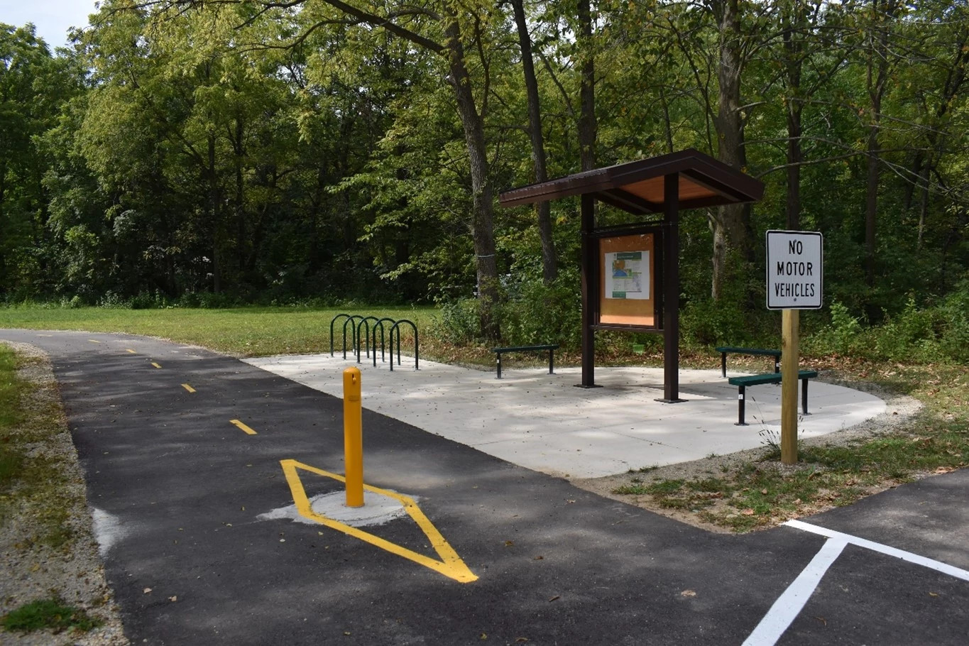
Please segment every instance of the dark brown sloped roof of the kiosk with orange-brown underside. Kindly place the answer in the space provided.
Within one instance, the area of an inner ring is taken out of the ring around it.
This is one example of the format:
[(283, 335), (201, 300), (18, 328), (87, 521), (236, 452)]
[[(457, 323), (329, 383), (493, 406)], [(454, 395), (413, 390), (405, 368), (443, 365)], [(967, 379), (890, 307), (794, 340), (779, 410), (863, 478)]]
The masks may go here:
[(679, 208), (701, 208), (760, 200), (764, 183), (718, 162), (699, 150), (577, 172), (502, 193), (502, 206), (592, 194), (597, 200), (635, 214), (661, 213), (666, 203), (664, 177), (679, 173)]

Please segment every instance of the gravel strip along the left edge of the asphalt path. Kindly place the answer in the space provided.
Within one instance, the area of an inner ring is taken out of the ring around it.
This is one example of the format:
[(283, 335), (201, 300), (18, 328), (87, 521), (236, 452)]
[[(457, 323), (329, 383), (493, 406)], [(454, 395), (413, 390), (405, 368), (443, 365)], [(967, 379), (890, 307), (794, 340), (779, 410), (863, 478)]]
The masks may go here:
[[(26, 397), (33, 409), (62, 411), (60, 393), (47, 355), (34, 346), (6, 343), (27, 359), (18, 375), (34, 385)], [(78, 451), (71, 440), (67, 420), (57, 415), (56, 428), (27, 446), (30, 464), (56, 469), (67, 481), (57, 491), (57, 504), (67, 508), (67, 540), (50, 547), (36, 538), (43, 531), (36, 501), (15, 489), (0, 497), (0, 615), (34, 600), (60, 597), (96, 617), (103, 624), (89, 632), (7, 632), (0, 629), (0, 643), (11, 646), (121, 646), (128, 644), (120, 613), (105, 580), (104, 563), (98, 554), (90, 508), (87, 507), (84, 475)], [(26, 431), (24, 431), (26, 432)]]

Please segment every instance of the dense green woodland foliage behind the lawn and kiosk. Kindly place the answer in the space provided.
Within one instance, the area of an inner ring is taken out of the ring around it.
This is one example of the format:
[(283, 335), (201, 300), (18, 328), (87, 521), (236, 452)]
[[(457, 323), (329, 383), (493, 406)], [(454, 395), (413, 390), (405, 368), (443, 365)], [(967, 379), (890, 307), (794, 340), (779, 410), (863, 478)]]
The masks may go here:
[[(328, 3), (122, 4), (102, 3), (71, 51), (51, 54), (29, 28), (0, 27), (0, 299), (133, 309), (446, 299), (448, 334), (477, 338), (477, 306), (460, 299), (475, 284), (473, 232), (485, 211), (474, 204), (485, 193), (472, 189), (462, 113), (472, 108), (484, 125), (489, 191), (535, 176), (507, 3), (461, 6), (474, 95), (463, 111), (449, 61), (433, 46), (350, 24)], [(426, 12), (365, 7), (447, 44), (437, 0)], [(600, 3), (595, 32), (579, 45), (574, 7), (528, 4), (551, 176), (578, 170), (576, 61), (585, 47), (596, 63), (599, 166), (686, 147), (717, 154), (726, 141), (724, 41), (712, 9)], [(936, 0), (893, 18), (860, 4), (811, 9), (738, 6), (736, 42), (750, 52), (735, 70), (744, 164), (766, 194), (731, 232), (746, 240), (729, 250), (717, 302), (703, 296), (714, 213), (683, 214), (683, 339), (757, 344), (776, 334), (761, 305), (759, 241), (784, 227), (797, 142), (801, 228), (825, 233), (825, 291), (835, 303), (806, 343), (826, 353), (965, 357), (964, 296), (953, 294), (966, 292), (957, 277), (969, 267), (969, 84), (959, 72), (969, 63), (969, 15)], [(889, 40), (881, 57), (871, 38), (879, 30)], [(779, 33), (792, 39), (767, 38)], [(867, 70), (881, 59), (888, 81), (875, 110)], [(874, 187), (869, 281), (874, 114), (885, 170)], [(533, 278), (534, 211), (494, 213), (498, 271), (514, 277), (496, 315), (509, 343), (578, 344), (578, 208), (551, 208), (563, 272), (551, 287)], [(629, 221), (603, 204), (597, 217)], [(876, 323), (884, 324), (867, 328)]]

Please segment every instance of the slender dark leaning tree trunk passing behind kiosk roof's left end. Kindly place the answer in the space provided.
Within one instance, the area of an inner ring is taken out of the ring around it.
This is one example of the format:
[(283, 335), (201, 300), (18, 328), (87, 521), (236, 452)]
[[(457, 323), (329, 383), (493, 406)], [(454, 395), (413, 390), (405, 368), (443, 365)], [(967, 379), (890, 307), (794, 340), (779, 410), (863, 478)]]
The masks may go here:
[[(532, 39), (528, 34), (525, 10), (522, 0), (512, 0), (515, 24), (518, 31), (518, 46), (521, 48), (521, 68), (525, 77), (525, 94), (528, 99), (528, 136), (532, 142), (532, 164), (535, 167), (535, 181), (548, 179), (546, 166), (545, 140), (542, 137), (542, 106), (539, 101), (539, 84), (535, 78), (535, 62), (532, 58)], [(539, 238), (542, 240), (542, 277), (546, 285), (558, 277), (558, 261), (555, 257), (555, 243), (551, 231), (551, 205), (541, 201), (537, 205)]]

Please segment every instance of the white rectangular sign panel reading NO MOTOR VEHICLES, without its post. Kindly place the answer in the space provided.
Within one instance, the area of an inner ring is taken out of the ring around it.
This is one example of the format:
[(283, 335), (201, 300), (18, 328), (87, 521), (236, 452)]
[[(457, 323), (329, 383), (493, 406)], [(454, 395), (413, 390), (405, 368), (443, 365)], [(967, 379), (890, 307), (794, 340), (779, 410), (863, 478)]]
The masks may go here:
[(819, 231), (767, 231), (767, 309), (821, 309), (823, 278)]

